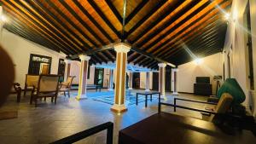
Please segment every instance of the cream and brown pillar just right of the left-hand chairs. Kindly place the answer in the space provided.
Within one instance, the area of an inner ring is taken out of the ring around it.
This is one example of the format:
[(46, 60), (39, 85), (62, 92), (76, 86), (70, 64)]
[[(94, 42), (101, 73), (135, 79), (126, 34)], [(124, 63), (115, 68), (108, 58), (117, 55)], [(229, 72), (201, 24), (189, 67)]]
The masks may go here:
[(81, 60), (80, 73), (79, 73), (79, 95), (76, 96), (77, 100), (86, 99), (86, 85), (87, 85), (87, 74), (90, 56), (79, 55)]

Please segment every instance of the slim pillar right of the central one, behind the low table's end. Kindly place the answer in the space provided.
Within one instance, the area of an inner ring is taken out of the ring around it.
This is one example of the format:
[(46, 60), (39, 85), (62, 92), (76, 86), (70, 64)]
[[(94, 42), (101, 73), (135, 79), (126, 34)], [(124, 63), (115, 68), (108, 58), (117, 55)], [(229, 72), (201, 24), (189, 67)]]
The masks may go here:
[(159, 66), (159, 92), (161, 98), (166, 99), (166, 64), (160, 63)]

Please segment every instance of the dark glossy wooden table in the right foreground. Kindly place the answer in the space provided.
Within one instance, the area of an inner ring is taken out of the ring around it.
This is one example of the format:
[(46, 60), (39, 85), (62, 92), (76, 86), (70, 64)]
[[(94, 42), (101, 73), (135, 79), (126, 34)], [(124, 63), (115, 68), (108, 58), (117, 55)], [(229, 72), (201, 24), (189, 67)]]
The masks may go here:
[(228, 130), (201, 119), (160, 112), (119, 131), (119, 144), (255, 144), (251, 131)]

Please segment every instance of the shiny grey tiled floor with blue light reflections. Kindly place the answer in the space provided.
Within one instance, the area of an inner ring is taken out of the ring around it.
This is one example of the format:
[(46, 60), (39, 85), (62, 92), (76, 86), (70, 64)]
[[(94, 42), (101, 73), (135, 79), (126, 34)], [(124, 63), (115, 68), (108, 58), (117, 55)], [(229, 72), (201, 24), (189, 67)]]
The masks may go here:
[[(20, 104), (15, 103), (15, 95), (10, 95), (9, 100), (0, 111), (16, 109), (19, 116), (18, 118), (0, 120), (0, 143), (49, 143), (108, 121), (112, 121), (114, 124), (113, 143), (117, 143), (119, 130), (157, 112), (157, 100), (154, 100), (148, 102), (147, 108), (144, 107), (144, 103), (139, 103), (138, 106), (129, 106), (127, 112), (117, 114), (110, 111), (111, 105), (93, 101), (91, 97), (96, 95), (93, 91), (90, 90), (91, 96), (89, 95), (87, 100), (76, 101), (74, 96), (77, 91), (73, 91), (69, 99), (63, 95), (59, 96), (56, 105), (47, 100), (40, 102), (36, 108), (34, 105), (29, 105), (28, 95), (25, 98), (22, 97)], [(171, 93), (166, 95), (168, 95), (167, 101), (172, 102)], [(207, 98), (188, 94), (178, 96), (194, 100), (206, 100)], [(178, 104), (198, 108), (205, 107), (201, 104), (195, 105), (188, 102)], [(164, 107), (164, 110), (172, 112), (172, 108)], [(177, 110), (177, 112), (201, 118), (201, 114), (198, 112), (186, 110)], [(90, 136), (78, 143), (101, 144), (105, 143), (105, 140), (106, 131)]]

